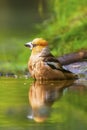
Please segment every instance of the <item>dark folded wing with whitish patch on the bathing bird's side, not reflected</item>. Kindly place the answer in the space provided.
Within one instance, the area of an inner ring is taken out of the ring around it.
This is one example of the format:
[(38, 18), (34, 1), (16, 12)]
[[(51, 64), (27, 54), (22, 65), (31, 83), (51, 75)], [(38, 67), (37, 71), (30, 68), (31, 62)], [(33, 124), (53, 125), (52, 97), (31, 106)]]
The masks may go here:
[(70, 71), (63, 69), (63, 67), (61, 66), (61, 64), (58, 61), (58, 59), (55, 58), (52, 54), (44, 57), (43, 61), (45, 62), (46, 65), (48, 65), (52, 69), (60, 70), (60, 71), (66, 72), (66, 73), (67, 72), (71, 73)]

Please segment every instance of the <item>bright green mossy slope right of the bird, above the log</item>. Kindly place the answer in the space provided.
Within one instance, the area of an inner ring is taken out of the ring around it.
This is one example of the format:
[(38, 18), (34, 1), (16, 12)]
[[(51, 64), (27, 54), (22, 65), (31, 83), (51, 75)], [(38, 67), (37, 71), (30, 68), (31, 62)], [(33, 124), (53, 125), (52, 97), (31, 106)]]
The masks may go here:
[(51, 17), (42, 24), (41, 36), (50, 41), (52, 52), (63, 55), (87, 48), (87, 1), (50, 0)]

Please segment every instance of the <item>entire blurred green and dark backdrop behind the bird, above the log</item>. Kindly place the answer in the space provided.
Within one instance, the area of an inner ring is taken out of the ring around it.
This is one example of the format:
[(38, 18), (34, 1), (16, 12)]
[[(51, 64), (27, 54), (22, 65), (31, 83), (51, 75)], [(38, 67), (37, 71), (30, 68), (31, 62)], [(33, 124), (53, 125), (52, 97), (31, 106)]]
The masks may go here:
[(36, 37), (55, 56), (87, 49), (87, 0), (0, 0), (0, 72), (25, 73)]

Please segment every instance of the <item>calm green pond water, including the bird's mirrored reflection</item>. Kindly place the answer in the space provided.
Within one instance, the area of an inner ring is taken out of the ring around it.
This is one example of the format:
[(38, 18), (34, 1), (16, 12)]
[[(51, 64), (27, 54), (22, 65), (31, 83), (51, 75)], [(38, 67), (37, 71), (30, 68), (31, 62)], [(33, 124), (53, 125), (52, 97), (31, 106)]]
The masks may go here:
[(87, 130), (87, 80), (0, 78), (0, 130)]

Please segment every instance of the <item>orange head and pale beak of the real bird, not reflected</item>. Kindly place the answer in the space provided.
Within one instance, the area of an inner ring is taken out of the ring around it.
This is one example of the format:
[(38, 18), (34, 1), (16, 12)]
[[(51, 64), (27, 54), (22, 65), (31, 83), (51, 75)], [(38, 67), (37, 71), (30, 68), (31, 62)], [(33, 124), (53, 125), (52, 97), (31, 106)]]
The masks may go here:
[(31, 42), (25, 44), (26, 47), (29, 47), (32, 50), (33, 54), (39, 53), (43, 48), (48, 46), (48, 42), (43, 38), (36, 38)]

